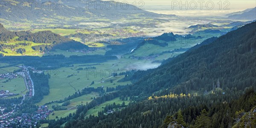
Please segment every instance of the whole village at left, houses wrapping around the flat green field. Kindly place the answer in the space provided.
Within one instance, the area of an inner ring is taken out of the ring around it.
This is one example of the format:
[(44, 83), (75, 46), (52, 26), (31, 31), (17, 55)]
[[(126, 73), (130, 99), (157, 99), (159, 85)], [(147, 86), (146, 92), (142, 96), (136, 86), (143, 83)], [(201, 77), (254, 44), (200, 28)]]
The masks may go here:
[[(26, 96), (34, 96), (34, 84), (31, 79), (31, 73), (43, 73), (43, 70), (35, 70), (33, 67), (19, 66), (20, 70), (17, 70), (13, 73), (11, 71), (4, 72), (0, 74), (0, 79), (16, 79), (17, 76), (20, 76), (24, 79), (26, 84), (26, 90), (28, 93), (23, 95), (23, 100)], [(6, 81), (3, 81), (6, 82)], [(12, 93), (9, 90), (0, 90), (0, 98), (6, 98), (9, 96), (15, 96), (18, 94)], [(50, 113), (53, 111), (48, 109), (47, 106), (41, 105), (38, 107), (37, 111), (32, 113), (22, 113), (20, 110), (23, 104), (23, 100), (20, 104), (10, 104), (10, 105), (0, 105), (0, 128), (11, 127), (12, 124), (16, 124), (17, 127), (22, 128), (32, 128), (35, 127), (39, 120), (46, 119)], [(18, 115), (18, 116), (17, 116)]]

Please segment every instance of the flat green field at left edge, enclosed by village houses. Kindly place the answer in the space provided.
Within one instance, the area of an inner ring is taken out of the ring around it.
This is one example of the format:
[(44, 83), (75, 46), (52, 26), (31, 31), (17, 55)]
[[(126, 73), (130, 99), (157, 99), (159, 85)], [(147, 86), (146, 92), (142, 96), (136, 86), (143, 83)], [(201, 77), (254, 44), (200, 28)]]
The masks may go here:
[(26, 85), (24, 83), (23, 78), (16, 78), (11, 79), (6, 83), (3, 83), (3, 81), (6, 81), (8, 79), (0, 79), (0, 90), (9, 90), (11, 93), (21, 93), (26, 89)]

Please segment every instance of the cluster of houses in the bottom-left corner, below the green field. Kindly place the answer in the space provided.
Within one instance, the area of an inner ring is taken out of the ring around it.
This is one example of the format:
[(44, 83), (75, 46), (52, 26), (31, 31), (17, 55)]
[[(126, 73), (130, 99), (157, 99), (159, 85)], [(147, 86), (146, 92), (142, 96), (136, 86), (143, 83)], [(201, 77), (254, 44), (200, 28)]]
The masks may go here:
[(22, 116), (12, 117), (15, 113), (14, 110), (9, 113), (3, 113), (0, 115), (0, 128), (10, 127), (10, 124), (16, 124), (18, 127), (31, 128), (36, 126), (40, 119), (46, 119), (52, 110), (49, 110), (47, 106), (40, 106), (35, 113), (22, 113)]

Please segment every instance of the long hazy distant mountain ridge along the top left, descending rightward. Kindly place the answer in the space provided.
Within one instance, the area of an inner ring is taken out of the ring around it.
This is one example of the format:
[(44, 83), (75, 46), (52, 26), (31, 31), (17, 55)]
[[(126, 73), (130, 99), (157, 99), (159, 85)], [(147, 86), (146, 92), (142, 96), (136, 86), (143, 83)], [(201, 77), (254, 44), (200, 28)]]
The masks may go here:
[[(31, 1), (27, 1), (28, 3)], [(56, 1), (55, 1), (56, 2)], [(91, 2), (91, 3), (90, 3)], [(95, 4), (99, 4), (94, 6)], [(28, 5), (28, 3), (26, 5)], [(10, 20), (13, 22), (26, 22), (29, 21), (37, 21), (41, 22), (42, 20), (55, 20), (61, 21), (63, 17), (70, 18), (71, 21), (78, 21), (77, 17), (83, 18), (105, 18), (105, 19), (122, 19), (122, 18), (135, 18), (135, 17), (162, 17), (162, 16), (174, 16), (174, 15), (162, 15), (156, 14), (153, 12), (148, 12), (143, 9), (139, 9), (136, 6), (128, 4), (127, 7), (125, 5), (117, 5), (113, 6), (115, 3), (111, 1), (112, 6), (106, 7), (105, 1), (95, 0), (95, 1), (83, 1), (83, 0), (59, 0), (56, 3), (49, 3), (47, 1), (39, 2), (42, 3), (43, 9), (39, 8), (35, 4), (31, 4), (31, 6), (26, 7), (25, 9), (17, 8), (15, 6), (1, 6), (0, 16), (3, 19)], [(93, 6), (89, 6), (93, 4)], [(9, 1), (8, 4), (17, 5), (21, 4), (19, 0)], [(23, 5), (23, 4), (21, 4)], [(51, 8), (49, 8), (51, 5)], [(22, 6), (23, 8), (23, 6)], [(58, 22), (57, 22), (58, 23)]]

